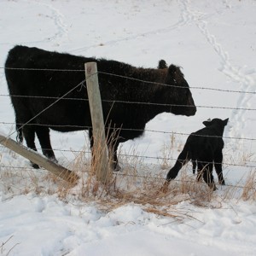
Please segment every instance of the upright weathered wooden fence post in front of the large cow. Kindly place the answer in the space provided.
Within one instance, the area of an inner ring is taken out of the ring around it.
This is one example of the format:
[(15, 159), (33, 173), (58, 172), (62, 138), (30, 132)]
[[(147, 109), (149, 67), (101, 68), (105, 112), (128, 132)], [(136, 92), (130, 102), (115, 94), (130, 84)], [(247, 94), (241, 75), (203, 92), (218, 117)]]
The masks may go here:
[(111, 172), (108, 165), (108, 149), (96, 62), (85, 63), (84, 67), (93, 130), (93, 168), (96, 170), (96, 177), (99, 181), (109, 183)]

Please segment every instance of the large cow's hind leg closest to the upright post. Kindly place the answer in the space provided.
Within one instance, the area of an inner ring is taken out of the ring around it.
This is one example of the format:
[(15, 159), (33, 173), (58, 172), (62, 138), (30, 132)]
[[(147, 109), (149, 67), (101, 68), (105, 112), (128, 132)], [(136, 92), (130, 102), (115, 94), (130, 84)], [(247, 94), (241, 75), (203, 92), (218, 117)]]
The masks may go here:
[(41, 145), (43, 154), (49, 158), (49, 160), (58, 162), (55, 158), (53, 149), (51, 148), (49, 140), (49, 128), (45, 126), (36, 126), (36, 133), (38, 136), (39, 143)]

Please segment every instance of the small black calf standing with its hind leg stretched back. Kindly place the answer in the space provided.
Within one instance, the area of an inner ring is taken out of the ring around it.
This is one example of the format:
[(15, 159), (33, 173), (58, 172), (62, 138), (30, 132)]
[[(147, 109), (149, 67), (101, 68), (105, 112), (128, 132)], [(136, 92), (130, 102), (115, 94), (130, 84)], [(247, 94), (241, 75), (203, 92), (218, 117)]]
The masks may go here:
[(227, 125), (228, 120), (212, 119), (204, 121), (203, 124), (206, 127), (189, 135), (183, 151), (179, 154), (175, 165), (167, 174), (166, 185), (177, 177), (179, 170), (189, 160), (192, 160), (193, 172), (195, 172), (196, 165), (198, 167), (197, 180), (200, 180), (202, 176), (208, 186), (215, 190), (216, 186), (212, 176), (214, 164), (218, 174), (218, 183), (225, 184), (222, 172), (222, 149), (224, 148), (222, 137), (224, 126)]

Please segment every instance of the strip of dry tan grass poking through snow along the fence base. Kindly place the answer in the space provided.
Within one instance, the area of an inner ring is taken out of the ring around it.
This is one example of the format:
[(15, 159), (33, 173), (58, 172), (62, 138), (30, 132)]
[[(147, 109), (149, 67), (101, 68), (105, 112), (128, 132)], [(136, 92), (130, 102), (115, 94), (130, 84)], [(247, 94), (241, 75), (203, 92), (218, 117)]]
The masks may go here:
[[(95, 201), (105, 211), (134, 202), (143, 206), (147, 212), (175, 218), (190, 217), (188, 212), (177, 212), (175, 206), (181, 201), (188, 201), (198, 207), (218, 207), (219, 204), (214, 204), (217, 197), (218, 202), (219, 198), (222, 201), (234, 198), (244, 201), (256, 200), (255, 169), (235, 185), (218, 186), (218, 191), (212, 192), (206, 183), (196, 181), (196, 177), (192, 175), (191, 165), (187, 165), (169, 184), (166, 193), (163, 193), (162, 188), (166, 177), (166, 170), (163, 171), (163, 167), (170, 168), (168, 161), (172, 158), (170, 156), (172, 156), (175, 143), (177, 143), (175, 137), (171, 136), (170, 144), (163, 151), (164, 160), (157, 166), (145, 164), (143, 157), (122, 156), (122, 172), (110, 175), (108, 183), (97, 181), (98, 160), (95, 159), (91, 165), (90, 157), (84, 153), (88, 151), (88, 148), (84, 147), (84, 150), (75, 155), (73, 162), (66, 165), (68, 169), (79, 175), (80, 179), (77, 184), (67, 183), (44, 170), (24, 168), (17, 172), (14, 167), (1, 170), (0, 185), (6, 194), (17, 195), (31, 192), (38, 195), (56, 194), (63, 201), (68, 201), (70, 196), (75, 196), (79, 201)], [(133, 155), (137, 155), (136, 152), (133, 152)], [(246, 160), (243, 157), (239, 162), (244, 163)], [(108, 166), (106, 166), (107, 169)]]

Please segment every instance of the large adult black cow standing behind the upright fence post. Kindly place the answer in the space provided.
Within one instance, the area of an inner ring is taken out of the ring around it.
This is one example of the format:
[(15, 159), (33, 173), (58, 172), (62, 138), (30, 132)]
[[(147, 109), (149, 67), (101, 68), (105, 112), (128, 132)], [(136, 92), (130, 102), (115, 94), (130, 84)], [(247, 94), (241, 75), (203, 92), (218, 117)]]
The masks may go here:
[[(27, 146), (36, 150), (37, 134), (43, 154), (56, 160), (49, 128), (62, 132), (87, 129), (92, 137), (87, 90), (85, 83), (80, 84), (84, 63), (90, 61), (96, 61), (99, 72), (106, 134), (112, 137), (108, 148), (113, 152), (113, 169), (119, 169), (119, 143), (140, 137), (145, 125), (158, 113), (195, 115), (189, 84), (174, 65), (166, 67), (161, 62), (159, 69), (132, 67), (119, 61), (15, 46), (9, 51), (5, 75), (20, 142), (24, 136)], [(116, 132), (116, 128), (120, 130)]]

